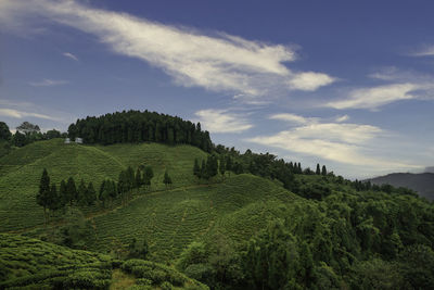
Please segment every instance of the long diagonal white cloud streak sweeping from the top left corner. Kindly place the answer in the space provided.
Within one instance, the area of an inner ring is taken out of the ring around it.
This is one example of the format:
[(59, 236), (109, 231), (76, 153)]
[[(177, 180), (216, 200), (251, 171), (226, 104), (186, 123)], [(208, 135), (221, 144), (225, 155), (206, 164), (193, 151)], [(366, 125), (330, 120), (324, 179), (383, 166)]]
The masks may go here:
[(288, 46), (222, 33), (204, 35), (126, 13), (93, 9), (76, 1), (3, 1), (8, 3), (8, 11), (0, 13), (2, 23), (25, 21), (31, 14), (80, 29), (97, 36), (116, 53), (163, 68), (177, 84), (186, 87), (257, 99), (291, 89), (311, 91), (334, 81), (321, 73), (290, 71), (283, 63), (294, 61), (295, 52)]

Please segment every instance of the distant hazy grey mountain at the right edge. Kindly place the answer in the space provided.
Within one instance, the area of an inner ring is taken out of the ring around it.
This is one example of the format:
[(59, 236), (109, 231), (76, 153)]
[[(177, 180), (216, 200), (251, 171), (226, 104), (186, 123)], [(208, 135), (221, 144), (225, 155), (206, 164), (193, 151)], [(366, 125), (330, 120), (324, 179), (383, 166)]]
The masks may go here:
[[(434, 167), (427, 167), (434, 172)], [(392, 185), (394, 187), (407, 187), (417, 191), (421, 197), (434, 200), (434, 173), (421, 174), (393, 173), (369, 179), (374, 185)]]

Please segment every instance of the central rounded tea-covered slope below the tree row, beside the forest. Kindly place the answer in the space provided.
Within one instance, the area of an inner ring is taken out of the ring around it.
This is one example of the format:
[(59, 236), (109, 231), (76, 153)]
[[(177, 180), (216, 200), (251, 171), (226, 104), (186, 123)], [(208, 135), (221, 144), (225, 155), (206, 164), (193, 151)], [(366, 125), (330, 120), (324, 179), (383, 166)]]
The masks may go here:
[(145, 238), (152, 260), (168, 262), (192, 241), (225, 234), (246, 240), (276, 217), (280, 204), (298, 198), (273, 181), (252, 175), (138, 197), (128, 206), (93, 219), (91, 250), (111, 252)]

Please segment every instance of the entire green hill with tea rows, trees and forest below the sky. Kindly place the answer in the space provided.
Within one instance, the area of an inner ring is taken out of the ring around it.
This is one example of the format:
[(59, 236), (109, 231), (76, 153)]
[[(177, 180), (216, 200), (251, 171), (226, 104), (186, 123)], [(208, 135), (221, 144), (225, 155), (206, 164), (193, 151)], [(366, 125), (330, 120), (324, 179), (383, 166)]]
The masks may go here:
[[(191, 278), (212, 289), (434, 285), (433, 203), (326, 165), (314, 172), (213, 144), (205, 153), (180, 144), (190, 142), (179, 126), (201, 131), (182, 122), (137, 111), (88, 117), (69, 134), (115, 144), (52, 139), (5, 152), (0, 231), (23, 236), (0, 235), (0, 288), (206, 289)], [(102, 139), (100, 123), (112, 128)], [(168, 144), (126, 143), (151, 128)]]

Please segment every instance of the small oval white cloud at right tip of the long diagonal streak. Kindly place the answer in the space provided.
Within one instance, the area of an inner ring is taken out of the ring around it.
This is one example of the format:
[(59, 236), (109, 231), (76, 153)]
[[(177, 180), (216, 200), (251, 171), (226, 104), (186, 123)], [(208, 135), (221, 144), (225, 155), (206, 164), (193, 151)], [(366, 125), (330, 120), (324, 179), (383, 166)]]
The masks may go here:
[(322, 86), (328, 86), (336, 79), (321, 73), (299, 73), (289, 80), (290, 87), (298, 90), (314, 91)]

